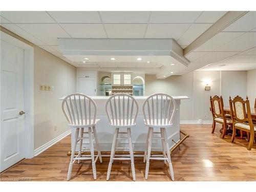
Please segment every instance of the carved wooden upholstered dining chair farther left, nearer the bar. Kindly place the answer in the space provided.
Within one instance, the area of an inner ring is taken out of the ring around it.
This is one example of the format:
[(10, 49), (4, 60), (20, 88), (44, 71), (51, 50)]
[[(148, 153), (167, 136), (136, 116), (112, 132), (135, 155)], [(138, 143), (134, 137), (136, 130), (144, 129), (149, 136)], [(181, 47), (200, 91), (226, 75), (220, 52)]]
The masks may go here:
[(211, 113), (212, 113), (212, 130), (211, 133), (213, 134), (215, 131), (216, 123), (222, 124), (223, 132), (222, 138), (225, 137), (227, 126), (232, 125), (230, 116), (226, 116), (224, 113), (224, 106), (223, 106), (223, 98), (222, 96), (215, 95), (214, 97), (210, 96), (210, 106), (211, 106)]

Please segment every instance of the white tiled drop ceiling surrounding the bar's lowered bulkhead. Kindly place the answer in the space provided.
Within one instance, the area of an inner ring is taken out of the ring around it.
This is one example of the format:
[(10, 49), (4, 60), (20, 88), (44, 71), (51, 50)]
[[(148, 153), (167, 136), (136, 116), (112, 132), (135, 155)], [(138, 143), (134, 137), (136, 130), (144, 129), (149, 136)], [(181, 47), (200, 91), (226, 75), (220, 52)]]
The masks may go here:
[[(125, 62), (98, 61), (84, 65), (81, 61), (70, 60), (61, 54), (57, 39), (174, 38), (184, 49), (225, 13), (226, 11), (2, 11), (0, 22), (4, 28), (76, 67), (133, 68), (138, 66), (137, 62), (126, 65)], [(246, 50), (253, 47), (256, 47), (256, 12), (252, 11), (186, 55), (191, 65), (181, 73), (206, 65), (208, 69), (211, 65), (219, 66), (218, 63), (233, 55), (242, 54), (244, 57), (234, 57), (228, 63), (248, 63), (249, 57), (246, 55), (255, 55), (256, 51)], [(148, 66), (147, 63), (140, 64), (145, 70), (156, 67), (160, 69), (162, 66), (160, 63)], [(246, 65), (243, 64), (245, 70), (253, 66)]]

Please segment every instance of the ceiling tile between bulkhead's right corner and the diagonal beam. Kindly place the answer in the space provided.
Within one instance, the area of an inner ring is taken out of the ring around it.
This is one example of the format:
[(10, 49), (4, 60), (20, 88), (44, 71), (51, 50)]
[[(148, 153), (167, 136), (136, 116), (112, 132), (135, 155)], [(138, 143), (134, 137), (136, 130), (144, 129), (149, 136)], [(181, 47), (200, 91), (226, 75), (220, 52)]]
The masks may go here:
[(178, 44), (189, 45), (202, 33), (204, 33), (212, 24), (192, 24), (188, 30), (180, 37)]

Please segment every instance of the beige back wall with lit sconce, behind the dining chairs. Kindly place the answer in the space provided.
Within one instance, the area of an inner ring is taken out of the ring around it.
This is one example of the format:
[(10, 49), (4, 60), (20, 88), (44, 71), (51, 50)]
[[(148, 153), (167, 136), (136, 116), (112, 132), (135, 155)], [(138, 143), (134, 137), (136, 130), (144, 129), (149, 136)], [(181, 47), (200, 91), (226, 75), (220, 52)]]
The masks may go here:
[[(145, 75), (145, 95), (164, 92), (169, 95), (186, 95), (182, 100), (180, 120), (211, 120), (209, 96), (223, 95), (224, 105), (228, 106), (229, 95), (246, 96), (246, 71), (194, 71), (181, 76), (156, 79), (155, 75)], [(205, 91), (204, 80), (210, 80), (210, 91)]]

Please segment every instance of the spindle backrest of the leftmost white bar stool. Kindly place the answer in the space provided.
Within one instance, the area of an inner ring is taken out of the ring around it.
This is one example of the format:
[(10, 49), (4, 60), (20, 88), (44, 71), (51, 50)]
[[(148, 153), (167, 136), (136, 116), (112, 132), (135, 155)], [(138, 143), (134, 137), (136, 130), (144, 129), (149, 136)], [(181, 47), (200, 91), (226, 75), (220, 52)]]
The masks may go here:
[(81, 93), (73, 93), (62, 101), (62, 111), (71, 125), (95, 123), (97, 106), (93, 99)]

